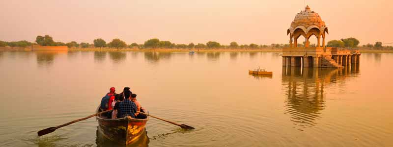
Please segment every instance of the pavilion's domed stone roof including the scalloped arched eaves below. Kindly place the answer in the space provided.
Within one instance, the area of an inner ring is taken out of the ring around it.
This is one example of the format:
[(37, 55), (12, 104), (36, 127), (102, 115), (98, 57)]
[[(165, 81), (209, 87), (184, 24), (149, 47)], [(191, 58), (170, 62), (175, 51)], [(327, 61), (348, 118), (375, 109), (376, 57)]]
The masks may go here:
[(302, 29), (306, 34), (312, 28), (318, 28), (320, 31), (328, 32), (325, 22), (322, 21), (318, 13), (311, 11), (308, 5), (304, 11), (300, 11), (298, 14), (296, 14), (295, 19), (291, 23), (291, 27), (289, 27), (287, 33), (293, 34), (294, 30), (297, 28)]

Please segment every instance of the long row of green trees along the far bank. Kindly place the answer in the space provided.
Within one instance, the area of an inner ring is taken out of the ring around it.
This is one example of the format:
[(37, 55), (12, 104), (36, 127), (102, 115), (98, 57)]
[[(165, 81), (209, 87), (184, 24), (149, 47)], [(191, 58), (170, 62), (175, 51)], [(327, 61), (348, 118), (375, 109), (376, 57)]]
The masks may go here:
[[(116, 49), (126, 49), (126, 48), (138, 48), (138, 49), (280, 49), (280, 48), (288, 48), (289, 44), (271, 44), (268, 45), (257, 45), (257, 44), (243, 44), (239, 45), (236, 42), (231, 42), (229, 45), (222, 45), (216, 41), (209, 41), (206, 44), (198, 43), (190, 43), (190, 44), (175, 44), (170, 41), (160, 41), (157, 38), (149, 39), (145, 41), (143, 44), (132, 43), (127, 45), (124, 41), (120, 39), (113, 39), (111, 42), (107, 43), (105, 40), (98, 38), (93, 40), (93, 44), (89, 43), (77, 43), (75, 41), (71, 41), (69, 43), (56, 42), (49, 35), (45, 36), (37, 36), (35, 39), (35, 43), (28, 42), (26, 40), (16, 41), (16, 42), (4, 42), (0, 41), (0, 47), (29, 47), (32, 44), (38, 44), (41, 46), (67, 46), (68, 48), (116, 48)], [(303, 44), (298, 44), (298, 47), (304, 47), (306, 42)], [(337, 47), (337, 48), (357, 48), (360, 44), (359, 40), (353, 37), (341, 39), (341, 40), (332, 40), (327, 43), (327, 47)], [(316, 47), (315, 44), (310, 44), (309, 47)], [(375, 44), (367, 44), (363, 45), (363, 48), (369, 49), (393, 49), (392, 46), (382, 46), (382, 42), (376, 42)]]

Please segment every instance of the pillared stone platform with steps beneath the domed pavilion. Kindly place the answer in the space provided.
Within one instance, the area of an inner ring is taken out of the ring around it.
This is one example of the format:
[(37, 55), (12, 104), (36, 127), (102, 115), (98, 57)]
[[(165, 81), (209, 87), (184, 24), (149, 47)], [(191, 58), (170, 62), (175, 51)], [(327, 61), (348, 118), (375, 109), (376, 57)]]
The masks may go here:
[(360, 55), (359, 50), (331, 47), (284, 48), (282, 49), (282, 66), (343, 68), (359, 65)]

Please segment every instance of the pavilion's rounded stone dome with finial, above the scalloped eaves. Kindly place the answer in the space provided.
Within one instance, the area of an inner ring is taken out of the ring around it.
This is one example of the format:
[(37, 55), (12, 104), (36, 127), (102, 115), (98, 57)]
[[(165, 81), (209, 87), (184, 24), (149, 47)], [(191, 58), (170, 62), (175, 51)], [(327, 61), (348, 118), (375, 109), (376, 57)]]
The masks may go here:
[(307, 5), (304, 11), (300, 11), (296, 14), (291, 27), (296, 28), (299, 25), (303, 25), (306, 28), (311, 25), (316, 25), (319, 28), (322, 28), (325, 26), (325, 22), (322, 21), (318, 13), (311, 11), (310, 7)]

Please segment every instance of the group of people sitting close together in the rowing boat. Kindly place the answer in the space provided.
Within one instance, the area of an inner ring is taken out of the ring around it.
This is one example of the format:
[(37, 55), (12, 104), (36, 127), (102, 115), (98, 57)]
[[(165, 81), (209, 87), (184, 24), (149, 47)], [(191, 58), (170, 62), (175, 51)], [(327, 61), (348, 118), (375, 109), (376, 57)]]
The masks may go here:
[(100, 104), (101, 111), (112, 110), (106, 114), (102, 114), (101, 117), (108, 119), (117, 119), (124, 117), (132, 117), (135, 119), (146, 119), (146, 115), (139, 112), (145, 113), (145, 110), (137, 100), (137, 94), (133, 94), (129, 87), (124, 87), (123, 92), (116, 94), (114, 87), (109, 89), (104, 98), (101, 99)]

